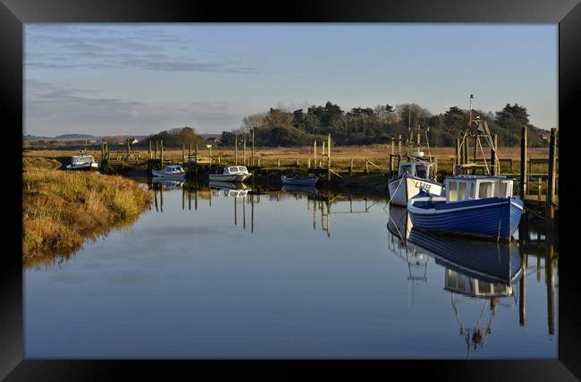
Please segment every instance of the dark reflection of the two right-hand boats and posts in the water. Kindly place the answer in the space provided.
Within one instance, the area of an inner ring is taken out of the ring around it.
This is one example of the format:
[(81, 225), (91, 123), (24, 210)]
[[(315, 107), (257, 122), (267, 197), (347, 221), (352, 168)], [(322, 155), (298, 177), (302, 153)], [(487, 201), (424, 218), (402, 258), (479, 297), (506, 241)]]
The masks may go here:
[[(539, 252), (539, 242), (531, 237), (543, 235), (528, 230), (520, 233), (517, 242), (488, 242), (417, 230), (411, 225), (406, 208), (390, 206), (387, 224), (388, 247), (408, 267), (408, 298), (413, 306), (414, 285), (427, 284), (429, 259), (444, 268), (443, 290), (450, 293), (450, 305), (459, 324), (459, 335), (467, 348), (467, 358), (483, 349), (493, 333), (493, 320), (498, 307), (516, 308), (519, 323), (525, 325), (526, 276), (531, 274), (528, 255)], [(557, 257), (552, 242), (541, 242), (546, 248), (545, 282), (547, 284), (548, 332), (554, 335), (554, 267)], [(544, 249), (540, 251), (543, 252)], [(536, 281), (541, 281), (543, 256), (536, 256)], [(517, 293), (518, 290), (518, 302)], [(475, 306), (479, 307), (475, 310)], [(476, 315), (475, 315), (476, 313)], [(469, 318), (467, 318), (469, 317)]]

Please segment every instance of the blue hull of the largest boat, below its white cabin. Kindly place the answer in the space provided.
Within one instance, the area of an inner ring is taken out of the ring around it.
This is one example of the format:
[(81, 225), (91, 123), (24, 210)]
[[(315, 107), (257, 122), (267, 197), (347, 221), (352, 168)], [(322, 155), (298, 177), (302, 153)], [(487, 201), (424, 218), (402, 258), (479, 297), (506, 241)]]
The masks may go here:
[(510, 240), (517, 230), (523, 202), (518, 198), (486, 198), (446, 203), (445, 198), (411, 199), (408, 213), (417, 229)]

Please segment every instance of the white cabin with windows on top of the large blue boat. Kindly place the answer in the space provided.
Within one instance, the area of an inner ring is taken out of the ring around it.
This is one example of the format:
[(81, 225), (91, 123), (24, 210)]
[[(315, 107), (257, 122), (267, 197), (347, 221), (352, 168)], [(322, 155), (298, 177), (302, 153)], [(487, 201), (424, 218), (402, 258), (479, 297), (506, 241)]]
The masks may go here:
[(446, 178), (446, 202), (512, 197), (512, 179), (504, 176), (459, 175)]

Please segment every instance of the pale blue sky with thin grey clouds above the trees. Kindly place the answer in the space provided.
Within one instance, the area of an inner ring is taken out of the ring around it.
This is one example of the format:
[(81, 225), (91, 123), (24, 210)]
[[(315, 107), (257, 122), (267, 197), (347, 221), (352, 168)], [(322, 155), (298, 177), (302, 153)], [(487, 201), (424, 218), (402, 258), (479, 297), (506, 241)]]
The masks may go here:
[(327, 101), (500, 111), (558, 127), (558, 24), (24, 25), (24, 134), (240, 127)]

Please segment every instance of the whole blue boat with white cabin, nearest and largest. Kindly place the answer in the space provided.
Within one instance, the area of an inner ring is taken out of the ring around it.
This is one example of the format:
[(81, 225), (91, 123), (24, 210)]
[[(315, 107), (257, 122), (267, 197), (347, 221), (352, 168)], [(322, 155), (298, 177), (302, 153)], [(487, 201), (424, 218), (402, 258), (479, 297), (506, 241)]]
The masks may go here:
[(513, 180), (504, 176), (447, 177), (445, 196), (423, 189), (409, 199), (408, 213), (417, 229), (509, 241), (523, 212), (512, 189)]

